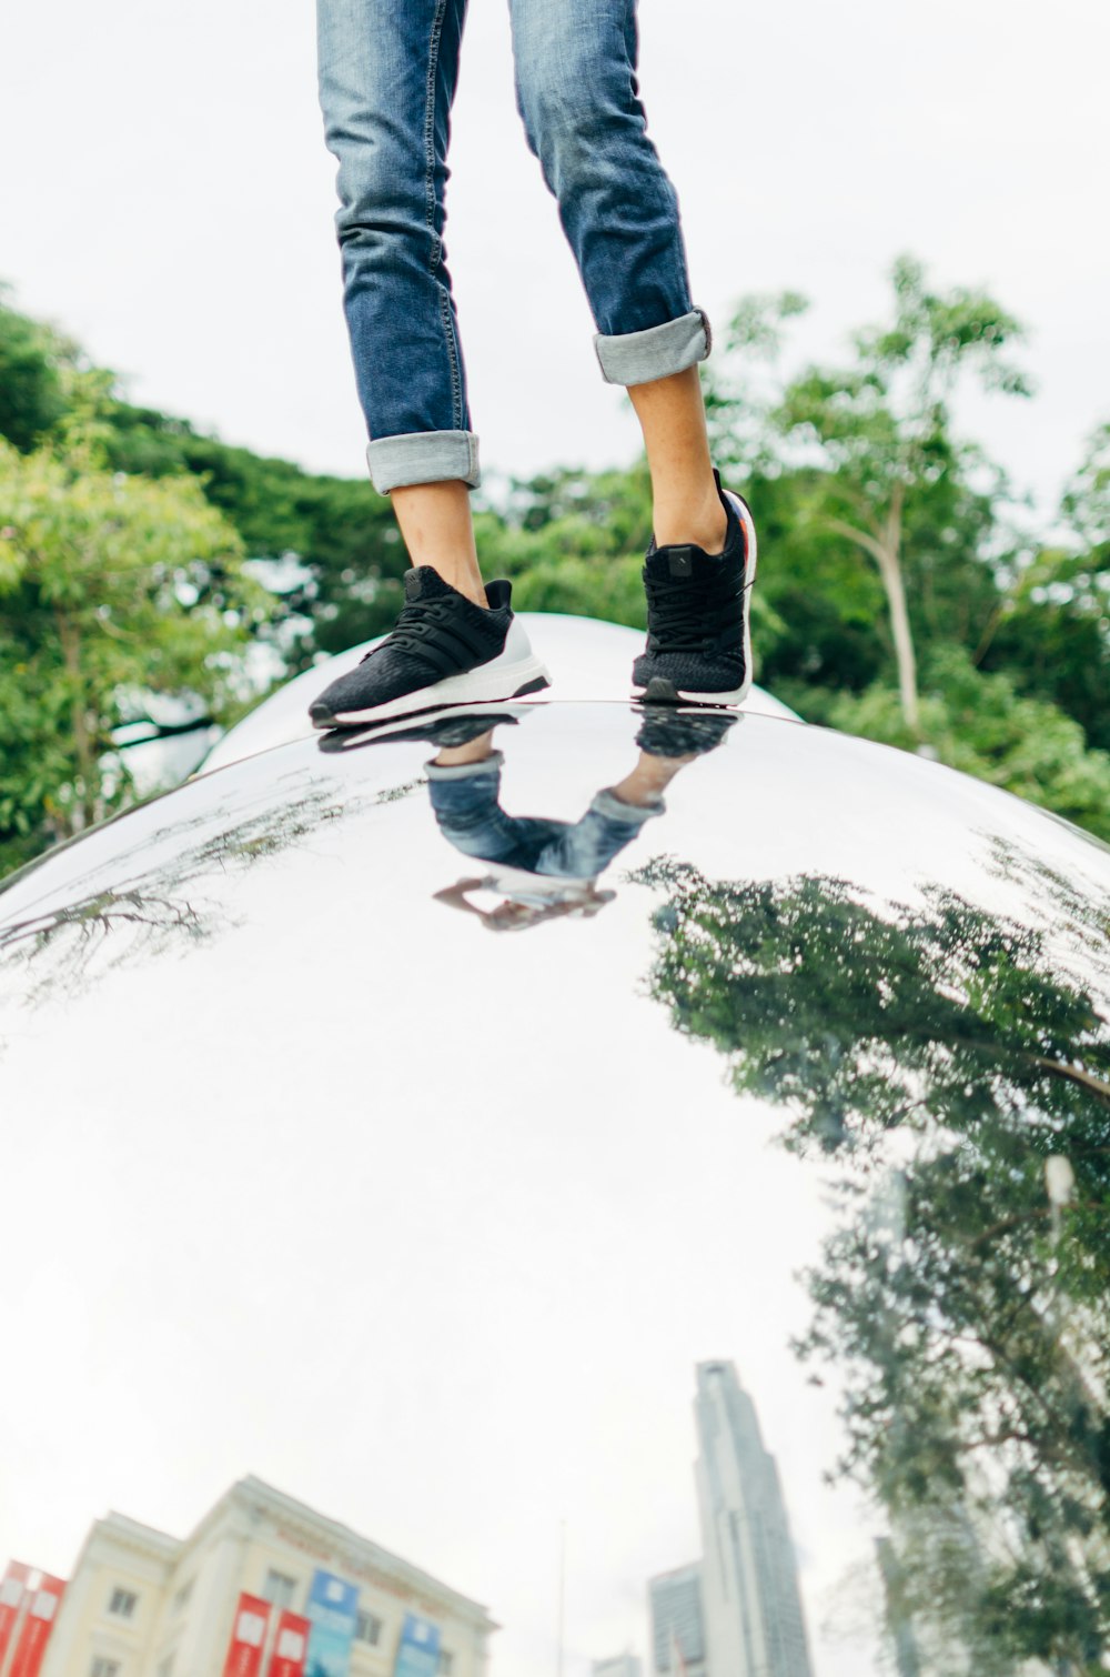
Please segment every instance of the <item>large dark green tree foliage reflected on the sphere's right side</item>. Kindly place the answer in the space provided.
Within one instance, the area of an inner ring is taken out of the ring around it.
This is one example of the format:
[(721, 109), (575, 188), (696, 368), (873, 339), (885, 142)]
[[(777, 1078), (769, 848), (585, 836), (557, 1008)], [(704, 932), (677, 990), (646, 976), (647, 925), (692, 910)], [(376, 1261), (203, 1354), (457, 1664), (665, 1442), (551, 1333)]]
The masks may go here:
[(838, 1471), (889, 1516), (904, 1670), (1110, 1654), (1105, 919), (1021, 872), (1043, 929), (936, 887), (879, 912), (835, 879), (634, 875), (666, 890), (651, 981), (676, 1028), (790, 1108), (791, 1149), (843, 1162), (796, 1350), (840, 1367)]

